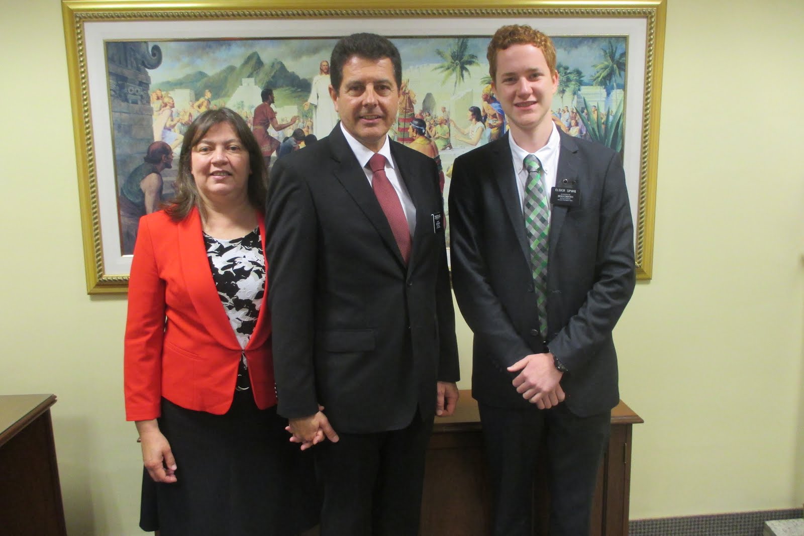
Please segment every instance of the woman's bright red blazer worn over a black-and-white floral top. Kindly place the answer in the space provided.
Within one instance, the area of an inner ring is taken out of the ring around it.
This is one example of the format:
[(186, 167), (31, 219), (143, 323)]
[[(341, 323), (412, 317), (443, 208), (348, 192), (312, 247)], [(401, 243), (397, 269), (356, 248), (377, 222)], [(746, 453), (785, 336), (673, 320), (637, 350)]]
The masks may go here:
[[(257, 218), (265, 251), (265, 223)], [(125, 325), (126, 419), (157, 418), (162, 397), (223, 415), (232, 405), (243, 351), (257, 407), (276, 404), (265, 287), (254, 333), (241, 350), (212, 280), (198, 210), (179, 222), (164, 211), (143, 216)]]

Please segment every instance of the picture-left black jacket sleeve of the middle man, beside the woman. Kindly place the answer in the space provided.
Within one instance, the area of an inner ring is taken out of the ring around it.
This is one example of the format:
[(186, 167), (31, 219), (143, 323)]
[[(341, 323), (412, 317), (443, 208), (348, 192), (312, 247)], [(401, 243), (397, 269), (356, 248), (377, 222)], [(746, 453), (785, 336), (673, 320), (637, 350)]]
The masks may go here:
[(277, 160), (265, 207), (265, 254), (277, 411), (286, 418), (318, 411), (313, 362), (316, 222), (306, 181), (285, 159)]

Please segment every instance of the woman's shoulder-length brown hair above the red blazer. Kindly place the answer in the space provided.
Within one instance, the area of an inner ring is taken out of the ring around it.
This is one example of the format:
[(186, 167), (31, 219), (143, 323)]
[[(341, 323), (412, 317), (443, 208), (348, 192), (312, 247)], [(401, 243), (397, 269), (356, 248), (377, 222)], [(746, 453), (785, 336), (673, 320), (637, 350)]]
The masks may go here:
[(192, 174), (193, 147), (207, 135), (209, 129), (220, 123), (228, 123), (235, 130), (240, 142), (248, 151), (248, 163), (251, 174), (248, 175), (248, 203), (257, 210), (265, 208), (265, 184), (268, 172), (265, 170), (265, 161), (262, 158), (260, 145), (256, 142), (254, 134), (248, 129), (243, 117), (229, 108), (207, 110), (192, 122), (184, 134), (182, 152), (178, 156), (178, 177), (176, 177), (176, 195), (165, 207), (170, 218), (178, 221), (187, 217), (193, 207), (198, 207), (202, 218), (205, 215), (203, 200), (195, 186)]

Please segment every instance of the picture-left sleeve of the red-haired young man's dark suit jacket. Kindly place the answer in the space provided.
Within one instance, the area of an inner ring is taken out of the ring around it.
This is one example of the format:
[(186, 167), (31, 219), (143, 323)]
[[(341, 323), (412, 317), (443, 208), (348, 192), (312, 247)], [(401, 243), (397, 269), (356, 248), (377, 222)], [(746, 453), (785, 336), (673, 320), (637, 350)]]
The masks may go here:
[(533, 351), (516, 332), (511, 318), (491, 287), (482, 256), (481, 191), (470, 162), (457, 158), (449, 187), (449, 253), (453, 290), (461, 314), (476, 342), (493, 349), (490, 357), (503, 369)]

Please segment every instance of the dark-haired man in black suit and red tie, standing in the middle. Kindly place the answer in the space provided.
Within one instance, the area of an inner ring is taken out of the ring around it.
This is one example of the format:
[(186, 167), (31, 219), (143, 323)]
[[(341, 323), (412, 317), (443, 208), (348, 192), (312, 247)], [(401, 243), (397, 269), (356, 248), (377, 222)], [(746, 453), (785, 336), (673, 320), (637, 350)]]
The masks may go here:
[(318, 444), (322, 535), (409, 536), (433, 415), (457, 401), (438, 175), (388, 138), (396, 47), (350, 35), (330, 67), (341, 121), (278, 160), (269, 186), (278, 411), (301, 448)]

